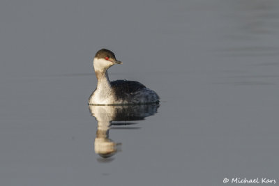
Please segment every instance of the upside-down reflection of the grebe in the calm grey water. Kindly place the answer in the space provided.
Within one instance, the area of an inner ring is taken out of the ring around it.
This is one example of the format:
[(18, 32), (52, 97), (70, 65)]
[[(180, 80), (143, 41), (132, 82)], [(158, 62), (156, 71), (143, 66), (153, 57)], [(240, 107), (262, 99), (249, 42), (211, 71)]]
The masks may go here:
[(159, 104), (137, 104), (123, 106), (89, 105), (91, 115), (98, 121), (94, 142), (95, 153), (100, 157), (111, 157), (119, 152), (121, 143), (109, 139), (111, 125), (129, 125), (134, 123), (115, 123), (113, 121), (139, 121), (156, 114)]

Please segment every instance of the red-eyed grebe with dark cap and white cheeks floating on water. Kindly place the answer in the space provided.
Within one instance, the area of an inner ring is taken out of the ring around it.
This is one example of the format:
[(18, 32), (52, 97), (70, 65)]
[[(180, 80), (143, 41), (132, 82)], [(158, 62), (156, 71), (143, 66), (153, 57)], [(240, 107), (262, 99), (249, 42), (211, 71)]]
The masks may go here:
[(89, 104), (151, 104), (158, 103), (156, 92), (135, 81), (116, 80), (110, 82), (107, 69), (117, 61), (114, 53), (108, 49), (100, 49), (94, 59), (93, 66), (98, 80), (97, 88), (89, 98)]

